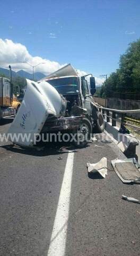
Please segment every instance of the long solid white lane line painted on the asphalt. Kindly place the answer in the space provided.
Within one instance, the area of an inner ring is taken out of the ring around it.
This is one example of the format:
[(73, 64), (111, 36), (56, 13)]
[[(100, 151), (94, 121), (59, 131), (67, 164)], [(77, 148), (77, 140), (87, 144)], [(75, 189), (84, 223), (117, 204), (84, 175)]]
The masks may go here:
[(54, 228), (52, 230), (48, 256), (64, 256), (66, 244), (67, 221), (71, 196), (74, 153), (68, 153), (65, 173), (60, 191)]

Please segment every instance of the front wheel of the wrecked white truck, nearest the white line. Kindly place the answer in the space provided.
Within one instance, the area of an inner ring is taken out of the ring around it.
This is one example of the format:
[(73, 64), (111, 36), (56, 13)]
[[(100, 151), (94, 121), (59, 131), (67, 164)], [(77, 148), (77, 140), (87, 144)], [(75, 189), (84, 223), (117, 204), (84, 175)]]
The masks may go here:
[(78, 129), (73, 130), (75, 135), (75, 140), (72, 141), (72, 144), (77, 148), (85, 147), (88, 144), (88, 141), (91, 138), (92, 125), (89, 119), (83, 118), (82, 124)]

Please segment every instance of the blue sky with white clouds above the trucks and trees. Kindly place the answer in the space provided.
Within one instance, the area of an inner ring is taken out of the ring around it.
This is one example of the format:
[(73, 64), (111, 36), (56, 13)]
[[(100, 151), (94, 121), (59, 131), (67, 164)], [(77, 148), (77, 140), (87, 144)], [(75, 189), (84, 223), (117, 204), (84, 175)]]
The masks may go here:
[(45, 75), (71, 63), (97, 84), (140, 37), (140, 0), (1, 0), (0, 67)]

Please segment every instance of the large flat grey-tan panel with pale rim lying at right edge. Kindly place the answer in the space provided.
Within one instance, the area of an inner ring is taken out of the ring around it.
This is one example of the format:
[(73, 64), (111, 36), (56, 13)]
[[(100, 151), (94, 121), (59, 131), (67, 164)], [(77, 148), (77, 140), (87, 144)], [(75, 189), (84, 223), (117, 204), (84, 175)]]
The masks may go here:
[(140, 165), (135, 158), (115, 159), (111, 161), (113, 169), (124, 183), (140, 183)]

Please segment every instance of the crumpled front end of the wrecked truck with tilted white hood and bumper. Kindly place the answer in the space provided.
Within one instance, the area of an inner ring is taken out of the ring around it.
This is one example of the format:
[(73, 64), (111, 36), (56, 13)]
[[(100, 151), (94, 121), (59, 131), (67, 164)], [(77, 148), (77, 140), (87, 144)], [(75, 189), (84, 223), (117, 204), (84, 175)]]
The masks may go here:
[(6, 133), (8, 140), (33, 147), (40, 133), (77, 129), (82, 123), (84, 110), (75, 103), (71, 108), (67, 105), (69, 101), (67, 104), (66, 98), (49, 83), (42, 81), (38, 84), (27, 79), (21, 107)]

